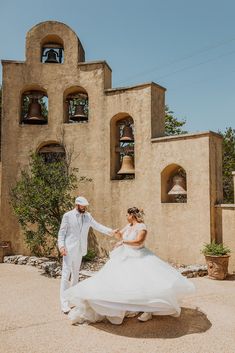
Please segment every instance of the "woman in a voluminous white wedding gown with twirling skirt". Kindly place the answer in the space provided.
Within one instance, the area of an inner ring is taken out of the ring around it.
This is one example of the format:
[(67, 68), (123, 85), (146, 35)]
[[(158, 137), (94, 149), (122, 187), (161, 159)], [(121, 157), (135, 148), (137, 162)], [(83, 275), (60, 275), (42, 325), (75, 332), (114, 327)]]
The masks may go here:
[(103, 268), (65, 291), (74, 306), (68, 315), (72, 324), (107, 318), (119, 325), (141, 312), (140, 321), (152, 315), (179, 316), (179, 300), (195, 291), (192, 282), (144, 246), (147, 229), (137, 207), (127, 210), (127, 221), (116, 231), (119, 242)]

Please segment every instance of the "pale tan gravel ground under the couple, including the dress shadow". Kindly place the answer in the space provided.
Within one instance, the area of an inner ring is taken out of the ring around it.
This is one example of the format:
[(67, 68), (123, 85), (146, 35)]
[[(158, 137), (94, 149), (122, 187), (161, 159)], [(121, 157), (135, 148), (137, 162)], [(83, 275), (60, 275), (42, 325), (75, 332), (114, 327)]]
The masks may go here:
[(59, 307), (59, 279), (0, 264), (1, 353), (234, 353), (235, 277), (191, 279), (197, 292), (179, 318), (72, 326)]

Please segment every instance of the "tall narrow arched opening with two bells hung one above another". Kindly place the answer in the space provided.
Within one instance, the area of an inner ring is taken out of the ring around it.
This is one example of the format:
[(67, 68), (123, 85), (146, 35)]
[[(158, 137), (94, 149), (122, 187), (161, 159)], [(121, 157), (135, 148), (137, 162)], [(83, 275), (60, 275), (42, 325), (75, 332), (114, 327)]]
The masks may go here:
[(135, 178), (134, 121), (126, 113), (111, 119), (111, 179)]

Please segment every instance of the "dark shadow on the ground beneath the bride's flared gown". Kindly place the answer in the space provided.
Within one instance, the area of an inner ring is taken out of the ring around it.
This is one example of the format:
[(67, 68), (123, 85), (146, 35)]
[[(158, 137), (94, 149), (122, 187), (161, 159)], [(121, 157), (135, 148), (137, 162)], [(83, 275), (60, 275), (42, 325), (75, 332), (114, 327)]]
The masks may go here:
[(193, 333), (202, 333), (211, 327), (207, 316), (198, 309), (182, 308), (178, 318), (154, 316), (152, 320), (140, 322), (137, 317), (126, 318), (119, 326), (109, 322), (93, 324), (99, 330), (114, 335), (134, 338), (177, 338)]

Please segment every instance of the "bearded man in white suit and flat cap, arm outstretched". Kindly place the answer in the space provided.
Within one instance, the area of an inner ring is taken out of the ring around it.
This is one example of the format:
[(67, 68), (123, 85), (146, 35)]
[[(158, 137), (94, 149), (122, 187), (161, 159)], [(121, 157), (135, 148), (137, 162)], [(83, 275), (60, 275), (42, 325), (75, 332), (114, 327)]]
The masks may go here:
[(62, 218), (58, 233), (58, 248), (63, 256), (62, 276), (60, 285), (61, 310), (67, 314), (70, 311), (68, 302), (64, 299), (64, 291), (71, 285), (78, 283), (79, 270), (82, 257), (87, 253), (87, 238), (89, 228), (112, 236), (113, 230), (96, 222), (90, 213), (86, 211), (89, 205), (85, 197), (75, 199), (75, 208), (66, 212)]

